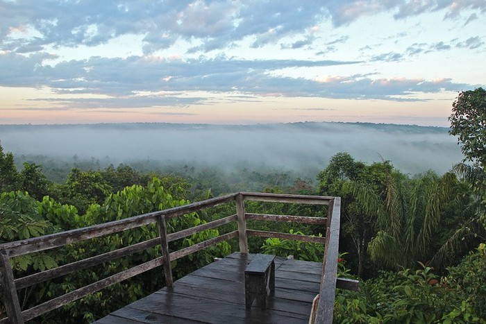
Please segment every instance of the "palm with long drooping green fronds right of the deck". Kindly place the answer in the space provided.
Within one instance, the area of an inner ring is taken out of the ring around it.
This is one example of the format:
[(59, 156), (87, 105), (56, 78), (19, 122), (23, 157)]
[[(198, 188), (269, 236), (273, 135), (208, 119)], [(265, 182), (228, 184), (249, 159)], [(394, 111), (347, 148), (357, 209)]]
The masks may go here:
[(439, 177), (428, 171), (412, 180), (389, 172), (381, 191), (361, 182), (347, 182), (347, 189), (374, 219), (376, 235), (367, 248), (371, 259), (387, 268), (428, 261), (455, 181), (453, 173)]

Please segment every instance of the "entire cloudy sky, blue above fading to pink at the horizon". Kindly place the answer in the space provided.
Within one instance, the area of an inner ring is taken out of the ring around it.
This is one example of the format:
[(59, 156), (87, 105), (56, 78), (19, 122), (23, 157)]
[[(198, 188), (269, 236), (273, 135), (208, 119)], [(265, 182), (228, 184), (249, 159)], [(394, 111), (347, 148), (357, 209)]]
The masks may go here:
[(0, 123), (448, 126), (486, 0), (0, 0)]

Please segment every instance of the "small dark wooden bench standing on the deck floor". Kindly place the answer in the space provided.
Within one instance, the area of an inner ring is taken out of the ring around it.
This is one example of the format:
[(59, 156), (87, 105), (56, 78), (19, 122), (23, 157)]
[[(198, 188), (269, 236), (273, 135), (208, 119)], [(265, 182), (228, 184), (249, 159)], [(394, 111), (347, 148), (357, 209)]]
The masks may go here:
[(256, 300), (261, 309), (267, 308), (268, 291), (275, 292), (275, 255), (257, 254), (244, 271), (246, 309)]

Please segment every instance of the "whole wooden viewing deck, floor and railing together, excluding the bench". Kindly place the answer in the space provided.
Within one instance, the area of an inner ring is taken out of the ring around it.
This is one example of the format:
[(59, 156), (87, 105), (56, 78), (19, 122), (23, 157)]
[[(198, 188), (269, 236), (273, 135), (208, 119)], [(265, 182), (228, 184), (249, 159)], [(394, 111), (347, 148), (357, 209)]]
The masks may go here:
[[(322, 213), (319, 212), (311, 216), (254, 214), (246, 212), (246, 201), (327, 205), (328, 207), (321, 210)], [(167, 232), (167, 220), (177, 219), (192, 212), (207, 210), (217, 205), (231, 203), (235, 204), (235, 214), (177, 232)], [(74, 302), (90, 293), (100, 291), (112, 284), (154, 268), (163, 271), (167, 287), (114, 312), (103, 318), (103, 321), (99, 323), (113, 323), (114, 321), (117, 323), (190, 323), (191, 321), (192, 323), (308, 323), (310, 303), (312, 298), (319, 293), (320, 298), (317, 307), (312, 311), (312, 322), (315, 324), (332, 324), (336, 285), (340, 284), (340, 287), (345, 289), (356, 289), (358, 287), (357, 282), (349, 282), (349, 280), (343, 282), (343, 280), (337, 279), (340, 204), (341, 199), (339, 197), (237, 192), (210, 198), (206, 201), (171, 207), (167, 210), (117, 219), (108, 223), (0, 244), (0, 290), (3, 295), (0, 302), (3, 304), (7, 315), (0, 318), (0, 324), (24, 324), (26, 321), (67, 305), (69, 302)], [(326, 236), (315, 237), (270, 232), (254, 229), (253, 226), (246, 228), (248, 221), (313, 224), (320, 226), (322, 232), (326, 232)], [(225, 234), (178, 250), (169, 248), (171, 241), (184, 239), (205, 230), (217, 229), (229, 223), (234, 223), (237, 230), (225, 232)], [(62, 264), (49, 270), (19, 276), (19, 278), (16, 278), (17, 271), (12, 268), (11, 259), (13, 257), (44, 253), (44, 251), (53, 248), (67, 247), (69, 244), (114, 235), (126, 230), (135, 230), (149, 224), (156, 224), (158, 237), (151, 239), (140, 237), (140, 241), (132, 242), (129, 246), (117, 246), (114, 250), (106, 249), (107, 246), (101, 247), (98, 255), (69, 264)], [(262, 311), (253, 307), (246, 311), (243, 278), (246, 262), (251, 259), (251, 255), (246, 254), (249, 253), (248, 237), (271, 237), (325, 244), (324, 261), (321, 264), (277, 259), (276, 293), (274, 298), (268, 300), (269, 309)], [(181, 278), (174, 285), (172, 262), (222, 241), (236, 238), (242, 254), (233, 254), (224, 260), (206, 266), (185, 278)], [(31, 308), (22, 309), (21, 307), (19, 289), (48, 282), (76, 271), (87, 270), (105, 262), (128, 257), (133, 253), (146, 250), (146, 248), (157, 246), (160, 247), (161, 252), (158, 257), (33, 305)], [(104, 251), (104, 253), (101, 253), (101, 251)]]

